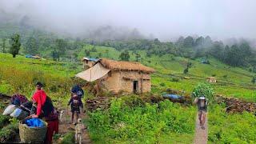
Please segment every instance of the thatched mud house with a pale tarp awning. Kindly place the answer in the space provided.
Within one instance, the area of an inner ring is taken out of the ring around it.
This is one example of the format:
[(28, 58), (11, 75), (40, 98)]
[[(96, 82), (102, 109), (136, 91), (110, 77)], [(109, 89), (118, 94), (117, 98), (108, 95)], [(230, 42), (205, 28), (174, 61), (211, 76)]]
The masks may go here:
[(103, 90), (115, 94), (120, 91), (141, 94), (150, 92), (152, 73), (154, 69), (138, 62), (118, 62), (103, 58), (76, 76), (89, 82), (97, 80)]

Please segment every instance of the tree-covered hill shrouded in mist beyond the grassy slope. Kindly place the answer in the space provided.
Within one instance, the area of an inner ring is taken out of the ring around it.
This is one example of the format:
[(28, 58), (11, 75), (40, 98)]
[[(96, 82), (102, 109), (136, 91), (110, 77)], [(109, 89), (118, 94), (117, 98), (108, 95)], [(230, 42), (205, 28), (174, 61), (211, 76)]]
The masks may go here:
[[(39, 54), (45, 58), (52, 58), (55, 54), (61, 59), (79, 59), (78, 53), (86, 44), (90, 44), (114, 47), (119, 51), (131, 50), (134, 53), (136, 50), (146, 50), (147, 57), (153, 54), (159, 57), (173, 54), (190, 59), (214, 57), (230, 66), (242, 66), (256, 71), (256, 52), (246, 40), (225, 45), (222, 41), (213, 41), (210, 36), (197, 38), (187, 36), (178, 38), (176, 42), (160, 42), (158, 38), (139, 39), (142, 35), (135, 29), (130, 33), (131, 37), (128, 40), (120, 35), (120, 39), (113, 40), (111, 33), (115, 34), (113, 27), (102, 26), (90, 34), (91, 38), (70, 38), (35, 29), (26, 25), (26, 22), (0, 23), (0, 50), (5, 49), (7, 52), (10, 47), (10, 36), (20, 34), (22, 50), (19, 54)], [(101, 39), (102, 35), (105, 38), (109, 35), (109, 39), (112, 40)], [(88, 52), (90, 51), (85, 51), (84, 55)]]

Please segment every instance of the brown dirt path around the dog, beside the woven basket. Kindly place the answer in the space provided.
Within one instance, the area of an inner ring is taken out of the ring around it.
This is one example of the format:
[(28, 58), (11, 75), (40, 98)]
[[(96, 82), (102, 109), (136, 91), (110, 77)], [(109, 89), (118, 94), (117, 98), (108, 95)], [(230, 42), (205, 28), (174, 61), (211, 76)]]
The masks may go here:
[[(71, 118), (71, 112), (70, 109), (65, 110), (66, 115), (64, 116), (64, 122), (60, 122), (58, 126), (58, 134), (66, 134), (69, 131), (74, 131), (74, 125), (70, 124), (70, 118)], [(79, 118), (86, 118), (86, 114), (79, 114)], [(87, 126), (85, 126), (87, 127)], [(60, 143), (60, 142), (54, 142), (54, 143)], [(86, 130), (84, 130), (82, 134), (82, 144), (91, 144), (89, 133)]]

